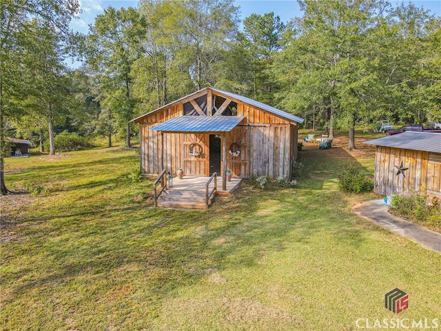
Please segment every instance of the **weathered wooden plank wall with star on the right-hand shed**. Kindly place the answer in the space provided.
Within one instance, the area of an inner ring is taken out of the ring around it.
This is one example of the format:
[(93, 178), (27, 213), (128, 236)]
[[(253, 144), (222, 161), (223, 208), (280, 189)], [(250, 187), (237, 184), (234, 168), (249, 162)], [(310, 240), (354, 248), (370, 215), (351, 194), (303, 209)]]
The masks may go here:
[[(397, 174), (402, 163), (405, 177)], [(377, 146), (374, 191), (384, 195), (421, 192), (441, 196), (441, 154)]]

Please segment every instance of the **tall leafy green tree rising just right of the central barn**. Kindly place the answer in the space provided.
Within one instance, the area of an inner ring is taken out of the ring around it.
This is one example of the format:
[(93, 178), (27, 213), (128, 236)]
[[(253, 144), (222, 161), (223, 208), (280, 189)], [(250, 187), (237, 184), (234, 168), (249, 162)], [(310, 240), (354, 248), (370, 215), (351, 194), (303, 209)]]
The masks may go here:
[[(388, 3), (306, 0), (299, 4), (305, 15), (293, 26), (291, 40), (283, 51), (291, 56), (282, 54), (280, 59), (296, 57), (297, 75), (292, 83), (312, 83), (315, 90), (322, 92), (325, 113), (329, 114), (329, 136), (334, 136), (336, 123), (348, 128), (349, 149), (353, 149), (355, 123), (369, 116), (364, 105), (370, 97), (369, 88), (375, 83), (375, 75), (369, 70), (369, 36)], [(315, 79), (307, 79), (308, 75)], [(302, 90), (308, 94), (310, 89), (303, 86)], [(299, 100), (305, 99), (296, 97), (292, 102), (297, 108), (301, 105)], [(316, 98), (312, 101), (316, 103)]]

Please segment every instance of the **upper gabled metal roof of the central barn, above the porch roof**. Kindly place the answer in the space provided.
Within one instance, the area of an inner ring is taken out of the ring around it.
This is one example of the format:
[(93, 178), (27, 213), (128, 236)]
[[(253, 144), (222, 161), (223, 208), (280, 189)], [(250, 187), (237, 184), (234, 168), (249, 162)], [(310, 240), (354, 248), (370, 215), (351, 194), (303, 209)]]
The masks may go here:
[[(200, 92), (203, 92), (204, 90), (207, 90), (207, 89), (208, 89), (208, 88), (203, 88), (202, 90), (198, 90), (198, 91), (196, 91), (196, 92), (194, 92), (194, 93), (192, 93), (192, 94), (188, 94), (188, 95), (186, 95), (185, 97), (182, 97), (181, 99), (178, 99), (178, 100), (173, 101), (173, 102), (171, 102), (171, 103), (167, 103), (167, 105), (162, 106), (162, 107), (160, 107), (160, 108), (158, 108), (158, 109), (156, 109), (156, 110), (153, 110), (152, 112), (147, 112), (146, 114), (143, 114), (143, 115), (141, 115), (140, 117), (136, 117), (136, 119), (132, 119), (132, 121), (136, 121), (137, 119), (141, 119), (141, 118), (145, 117), (145, 116), (148, 115), (148, 114), (152, 114), (153, 112), (158, 112), (159, 110), (163, 110), (163, 109), (165, 109), (165, 108), (169, 108), (170, 106), (174, 105), (175, 103), (181, 102), (181, 101), (183, 101), (184, 99), (187, 99), (188, 97), (192, 97), (193, 95), (198, 94), (198, 93), (200, 93)], [(288, 112), (284, 112), (283, 110), (280, 110), (280, 109), (277, 109), (277, 108), (274, 108), (274, 107), (268, 106), (268, 105), (266, 105), (265, 103), (261, 103), (261, 102), (256, 101), (256, 100), (249, 99), (249, 98), (247, 98), (247, 97), (243, 97), (242, 95), (234, 94), (234, 93), (230, 93), (230, 92), (225, 92), (225, 91), (223, 91), (223, 90), (218, 90), (217, 88), (211, 88), (211, 89), (212, 89), (213, 91), (215, 91), (215, 92), (218, 92), (219, 94), (223, 94), (223, 95), (225, 95), (225, 97), (230, 97), (230, 98), (232, 98), (232, 99), (240, 100), (240, 101), (242, 101), (242, 102), (244, 102), (244, 103), (248, 103), (248, 104), (251, 105), (251, 106), (255, 106), (255, 107), (257, 107), (257, 108), (260, 108), (260, 109), (262, 109), (262, 110), (265, 110), (265, 111), (267, 111), (267, 112), (270, 112), (270, 113), (272, 113), (272, 114), (275, 114), (275, 115), (278, 116), (278, 117), (283, 117), (284, 119), (287, 119), (287, 120), (289, 120), (289, 121), (294, 121), (294, 122), (297, 122), (297, 123), (303, 123), (303, 122), (305, 121), (305, 120), (302, 119), (301, 117), (297, 117), (297, 116), (295, 116), (295, 115), (293, 115), (293, 114), (289, 114)], [(131, 122), (132, 122), (132, 121), (131, 121)]]

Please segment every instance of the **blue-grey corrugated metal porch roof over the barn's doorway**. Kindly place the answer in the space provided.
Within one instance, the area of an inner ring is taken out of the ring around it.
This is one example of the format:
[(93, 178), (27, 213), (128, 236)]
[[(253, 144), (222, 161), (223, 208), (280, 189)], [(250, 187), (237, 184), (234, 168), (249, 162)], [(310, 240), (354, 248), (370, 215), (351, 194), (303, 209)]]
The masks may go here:
[(243, 119), (243, 116), (179, 116), (158, 124), (149, 131), (229, 132)]

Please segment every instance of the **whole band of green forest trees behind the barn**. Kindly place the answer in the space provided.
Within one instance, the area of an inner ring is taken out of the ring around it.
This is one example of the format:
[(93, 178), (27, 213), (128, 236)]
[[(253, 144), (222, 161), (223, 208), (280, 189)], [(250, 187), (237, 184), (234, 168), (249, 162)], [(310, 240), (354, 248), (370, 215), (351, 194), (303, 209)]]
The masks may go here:
[[(441, 121), (441, 19), (412, 3), (298, 1), (302, 17), (240, 21), (232, 0), (140, 0), (88, 34), (79, 0), (2, 0), (0, 174), (6, 137), (54, 154), (57, 137), (130, 139), (131, 119), (212, 86), (349, 132)], [(72, 69), (65, 59), (81, 61)]]

